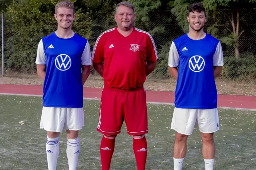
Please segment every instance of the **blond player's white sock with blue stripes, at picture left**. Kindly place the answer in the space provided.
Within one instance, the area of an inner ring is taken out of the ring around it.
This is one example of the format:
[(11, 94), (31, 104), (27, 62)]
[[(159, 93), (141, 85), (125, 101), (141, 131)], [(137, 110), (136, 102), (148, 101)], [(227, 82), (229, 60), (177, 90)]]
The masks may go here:
[(56, 170), (57, 160), (59, 155), (59, 138), (49, 138), (47, 136), (46, 155), (48, 170)]

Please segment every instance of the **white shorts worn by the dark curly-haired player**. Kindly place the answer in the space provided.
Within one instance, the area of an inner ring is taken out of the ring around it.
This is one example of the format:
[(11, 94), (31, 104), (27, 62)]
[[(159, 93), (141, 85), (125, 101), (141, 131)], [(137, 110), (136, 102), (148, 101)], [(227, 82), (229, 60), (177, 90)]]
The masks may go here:
[(174, 108), (171, 129), (178, 133), (191, 135), (195, 122), (202, 133), (213, 133), (220, 129), (219, 115), (215, 109), (180, 109)]

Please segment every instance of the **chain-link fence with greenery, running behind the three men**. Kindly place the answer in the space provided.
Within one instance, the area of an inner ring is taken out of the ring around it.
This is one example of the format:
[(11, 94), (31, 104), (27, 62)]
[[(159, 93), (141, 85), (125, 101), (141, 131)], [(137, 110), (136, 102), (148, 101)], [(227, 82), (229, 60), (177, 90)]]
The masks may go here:
[[(225, 66), (219, 79), (252, 83), (256, 80), (256, 50), (254, 47), (256, 44), (256, 21), (254, 19), (256, 10), (240, 9), (239, 16), (239, 22), (237, 22), (237, 11), (233, 15), (231, 10), (209, 12), (204, 29), (221, 40)], [(17, 16), (9, 12), (4, 14), (3, 25), (4, 75), (6, 77), (36, 75), (35, 59), (38, 42), (40, 38), (56, 30), (56, 20), (48, 13), (40, 14), (40, 16), (36, 14)], [(98, 36), (115, 26), (113, 13), (94, 16), (79, 14), (76, 16), (73, 30), (89, 40), (92, 50)], [(153, 36), (158, 52), (157, 68), (147, 80), (169, 80), (170, 44), (172, 40), (188, 31), (189, 25), (186, 18), (178, 21), (171, 11), (151, 12), (146, 18), (137, 16), (136, 27), (148, 31)], [(203, 50), (202, 47), (198, 49)], [(93, 68), (91, 76), (98, 76)]]

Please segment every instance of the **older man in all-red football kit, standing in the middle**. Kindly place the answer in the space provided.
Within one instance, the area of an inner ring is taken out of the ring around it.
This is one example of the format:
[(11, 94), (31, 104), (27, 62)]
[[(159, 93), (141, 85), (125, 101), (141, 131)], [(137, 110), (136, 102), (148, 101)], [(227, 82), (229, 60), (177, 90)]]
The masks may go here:
[[(117, 27), (103, 32), (92, 52), (93, 68), (103, 77), (104, 88), (97, 130), (103, 134), (100, 146), (102, 170), (109, 170), (115, 138), (123, 121), (133, 137), (137, 169), (147, 160), (148, 115), (143, 83), (157, 65), (152, 36), (134, 27), (133, 4), (117, 4)], [(104, 61), (104, 65), (102, 64)]]

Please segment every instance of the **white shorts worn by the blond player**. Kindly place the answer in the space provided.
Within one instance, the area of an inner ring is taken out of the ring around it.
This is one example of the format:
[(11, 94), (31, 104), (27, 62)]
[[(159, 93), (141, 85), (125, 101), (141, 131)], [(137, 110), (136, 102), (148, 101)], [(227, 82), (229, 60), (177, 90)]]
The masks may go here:
[(66, 130), (81, 130), (84, 126), (83, 108), (42, 108), (40, 129), (49, 132), (62, 132), (64, 124)]

